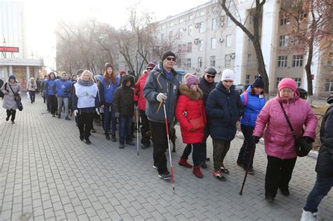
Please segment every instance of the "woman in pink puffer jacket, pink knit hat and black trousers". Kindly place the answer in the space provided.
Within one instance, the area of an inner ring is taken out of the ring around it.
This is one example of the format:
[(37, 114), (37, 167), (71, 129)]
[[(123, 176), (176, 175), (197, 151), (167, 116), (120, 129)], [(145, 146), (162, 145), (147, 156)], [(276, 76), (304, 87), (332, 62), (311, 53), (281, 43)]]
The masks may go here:
[[(253, 136), (256, 143), (265, 131), (265, 152), (268, 155), (265, 180), (265, 197), (273, 202), (278, 188), (283, 196), (289, 196), (289, 181), (296, 163), (296, 149), (283, 108), (292, 123), (297, 136), (306, 137), (308, 142), (315, 139), (317, 117), (306, 100), (299, 98), (293, 79), (282, 79), (278, 84), (278, 95), (268, 100), (256, 119)], [(306, 126), (302, 134), (303, 125)]]

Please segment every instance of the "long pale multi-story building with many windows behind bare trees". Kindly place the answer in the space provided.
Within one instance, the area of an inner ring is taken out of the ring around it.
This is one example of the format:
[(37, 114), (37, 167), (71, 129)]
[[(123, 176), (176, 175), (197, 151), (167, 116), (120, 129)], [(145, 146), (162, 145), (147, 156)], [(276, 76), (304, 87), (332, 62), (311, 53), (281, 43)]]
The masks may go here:
[[(252, 30), (253, 1), (233, 2), (237, 5), (237, 16), (245, 27)], [(281, 4), (280, 1), (266, 1), (259, 21), (270, 93), (276, 93), (278, 83), (285, 77), (293, 78), (297, 86), (307, 88), (304, 70), (306, 54), (296, 53), (288, 46), (291, 25), (280, 9)], [(307, 16), (306, 13), (302, 15)], [(206, 67), (214, 67), (221, 77), (223, 69), (233, 69), (236, 73), (235, 84), (252, 83), (260, 74), (252, 41), (228, 18), (217, 0), (159, 21), (160, 38), (174, 35), (178, 37), (175, 41), (178, 51), (185, 52), (181, 61), (177, 60), (178, 70), (201, 76)], [(326, 97), (333, 92), (333, 49), (329, 50), (313, 58), (311, 71), (315, 97)], [(216, 81), (219, 79), (216, 77)]]

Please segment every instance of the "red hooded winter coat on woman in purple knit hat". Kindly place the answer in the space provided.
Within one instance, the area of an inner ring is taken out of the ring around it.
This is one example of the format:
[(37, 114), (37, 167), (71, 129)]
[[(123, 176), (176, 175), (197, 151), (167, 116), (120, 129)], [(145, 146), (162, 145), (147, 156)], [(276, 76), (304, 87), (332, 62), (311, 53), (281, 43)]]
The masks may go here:
[(181, 137), (185, 144), (201, 143), (204, 140), (204, 128), (190, 132), (192, 125), (190, 119), (198, 119), (201, 114), (204, 124), (207, 123), (206, 112), (204, 111), (204, 103), (202, 102), (202, 91), (193, 91), (185, 84), (179, 87), (179, 98), (176, 105), (176, 118), (181, 124)]

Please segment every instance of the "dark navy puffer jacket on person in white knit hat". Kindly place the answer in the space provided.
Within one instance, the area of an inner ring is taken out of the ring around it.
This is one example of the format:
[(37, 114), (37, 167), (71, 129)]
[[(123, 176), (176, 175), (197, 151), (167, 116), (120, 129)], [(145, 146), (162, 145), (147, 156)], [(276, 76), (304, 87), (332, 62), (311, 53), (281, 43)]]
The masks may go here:
[(243, 105), (235, 86), (226, 90), (222, 82), (207, 98), (207, 117), (211, 118), (211, 138), (214, 140), (231, 141), (235, 138), (236, 123), (242, 114)]

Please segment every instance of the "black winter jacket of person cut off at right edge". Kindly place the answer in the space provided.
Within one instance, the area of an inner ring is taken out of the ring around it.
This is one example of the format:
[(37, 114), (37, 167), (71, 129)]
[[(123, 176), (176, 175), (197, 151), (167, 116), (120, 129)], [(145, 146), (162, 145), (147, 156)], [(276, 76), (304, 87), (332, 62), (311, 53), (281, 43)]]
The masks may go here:
[(333, 175), (333, 104), (322, 117), (320, 142), (315, 171), (320, 174)]

